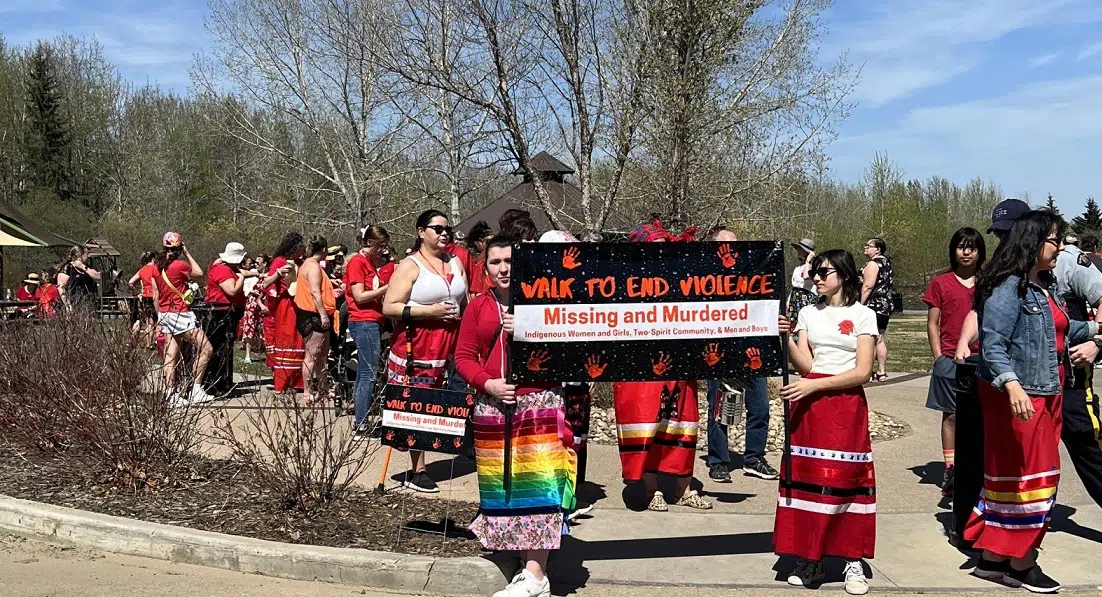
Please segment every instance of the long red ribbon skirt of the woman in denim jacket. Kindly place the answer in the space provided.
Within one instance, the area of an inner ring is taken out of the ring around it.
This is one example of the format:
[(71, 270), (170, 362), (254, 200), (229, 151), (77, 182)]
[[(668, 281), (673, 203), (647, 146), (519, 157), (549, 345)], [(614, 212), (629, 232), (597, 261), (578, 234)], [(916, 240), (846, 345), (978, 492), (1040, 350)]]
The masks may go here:
[(1029, 397), (1034, 416), (1015, 419), (1011, 400), (980, 381), (983, 409), (983, 493), (964, 527), (975, 549), (1025, 557), (1039, 547), (1060, 482), (1063, 395)]

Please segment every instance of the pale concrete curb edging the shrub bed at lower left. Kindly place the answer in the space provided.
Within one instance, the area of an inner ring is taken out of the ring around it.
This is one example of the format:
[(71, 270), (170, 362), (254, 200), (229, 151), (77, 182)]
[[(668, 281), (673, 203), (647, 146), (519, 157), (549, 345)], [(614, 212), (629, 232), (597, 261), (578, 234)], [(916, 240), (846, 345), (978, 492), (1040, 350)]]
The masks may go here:
[(488, 595), (505, 575), (480, 557), (428, 557), (262, 541), (0, 496), (0, 530), (67, 545), (230, 571), (403, 593)]

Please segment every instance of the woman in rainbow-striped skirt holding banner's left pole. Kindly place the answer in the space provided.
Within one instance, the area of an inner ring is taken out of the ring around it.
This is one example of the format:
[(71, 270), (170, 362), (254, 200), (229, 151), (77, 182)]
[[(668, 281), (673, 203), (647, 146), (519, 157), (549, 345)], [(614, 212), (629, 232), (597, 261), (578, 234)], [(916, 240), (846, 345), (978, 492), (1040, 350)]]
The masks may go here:
[(548, 556), (562, 541), (565, 511), (574, 508), (573, 436), (561, 384), (506, 380), (511, 239), (489, 241), (485, 268), (493, 292), (471, 301), (455, 349), (456, 369), (478, 391), (472, 421), (480, 504), (468, 528), (485, 549), (521, 552), (525, 560), (525, 569), (496, 596), (550, 595)]

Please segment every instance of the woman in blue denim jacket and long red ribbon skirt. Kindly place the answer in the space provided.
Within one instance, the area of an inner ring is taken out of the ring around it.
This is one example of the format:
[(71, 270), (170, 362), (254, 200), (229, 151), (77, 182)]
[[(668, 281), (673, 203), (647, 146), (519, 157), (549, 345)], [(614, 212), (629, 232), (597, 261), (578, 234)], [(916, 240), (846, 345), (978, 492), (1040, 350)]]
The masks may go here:
[[(973, 574), (1034, 593), (1060, 585), (1036, 562), (1060, 480), (1060, 409), (1067, 347), (1098, 324), (1069, 321), (1052, 269), (1067, 225), (1035, 210), (1019, 218), (980, 274), (983, 493), (964, 538), (983, 550)], [(1070, 344), (1069, 344), (1070, 343)]]

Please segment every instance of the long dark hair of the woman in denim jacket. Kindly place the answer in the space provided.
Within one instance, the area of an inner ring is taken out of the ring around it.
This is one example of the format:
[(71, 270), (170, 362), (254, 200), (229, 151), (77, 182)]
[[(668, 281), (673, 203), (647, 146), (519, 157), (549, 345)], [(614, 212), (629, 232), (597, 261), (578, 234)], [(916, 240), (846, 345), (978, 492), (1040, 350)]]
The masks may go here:
[[(1037, 265), (1037, 253), (1054, 230), (1058, 238), (1063, 238), (1067, 229), (1068, 224), (1063, 218), (1047, 209), (1034, 209), (1018, 218), (1006, 240), (995, 249), (995, 254), (976, 279), (975, 310), (983, 310), (987, 297), (1012, 275), (1018, 276), (1018, 295), (1025, 296), (1029, 272)], [(1040, 278), (1049, 284), (1052, 282), (1052, 272), (1042, 271)]]

